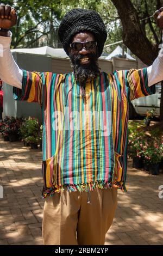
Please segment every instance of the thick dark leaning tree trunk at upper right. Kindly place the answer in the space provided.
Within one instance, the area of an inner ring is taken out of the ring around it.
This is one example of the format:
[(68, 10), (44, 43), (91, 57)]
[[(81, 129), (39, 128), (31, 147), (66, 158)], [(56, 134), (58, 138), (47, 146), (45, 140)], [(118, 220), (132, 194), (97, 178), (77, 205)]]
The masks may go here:
[(158, 56), (158, 46), (152, 45), (143, 33), (139, 16), (134, 5), (130, 0), (111, 0), (115, 5), (120, 16), (124, 44), (134, 53), (143, 63), (151, 65)]

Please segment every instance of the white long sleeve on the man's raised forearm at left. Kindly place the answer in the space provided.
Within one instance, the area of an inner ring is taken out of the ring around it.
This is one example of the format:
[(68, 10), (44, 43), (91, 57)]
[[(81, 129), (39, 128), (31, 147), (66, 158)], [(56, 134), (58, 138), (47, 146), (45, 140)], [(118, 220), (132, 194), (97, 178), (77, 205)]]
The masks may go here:
[(22, 88), (22, 70), (15, 63), (10, 51), (11, 32), (0, 31), (0, 78), (5, 83)]

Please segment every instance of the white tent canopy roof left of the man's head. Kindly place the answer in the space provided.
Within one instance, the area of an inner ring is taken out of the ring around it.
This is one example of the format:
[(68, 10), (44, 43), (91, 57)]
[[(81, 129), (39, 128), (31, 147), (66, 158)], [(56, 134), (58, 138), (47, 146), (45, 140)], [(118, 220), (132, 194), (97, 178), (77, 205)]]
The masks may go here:
[(63, 48), (52, 48), (49, 46), (43, 46), (39, 48), (16, 48), (12, 49), (11, 52), (22, 52), (30, 54), (48, 55), (57, 58), (68, 58)]

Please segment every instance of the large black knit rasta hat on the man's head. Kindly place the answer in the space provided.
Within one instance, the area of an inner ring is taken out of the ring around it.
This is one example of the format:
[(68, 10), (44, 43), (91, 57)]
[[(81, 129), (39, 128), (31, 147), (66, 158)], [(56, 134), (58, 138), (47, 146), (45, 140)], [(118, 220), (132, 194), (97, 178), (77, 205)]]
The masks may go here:
[(91, 32), (95, 36), (98, 47), (98, 57), (101, 56), (107, 38), (102, 18), (96, 11), (86, 9), (72, 9), (62, 19), (58, 35), (67, 53), (72, 37), (82, 31)]

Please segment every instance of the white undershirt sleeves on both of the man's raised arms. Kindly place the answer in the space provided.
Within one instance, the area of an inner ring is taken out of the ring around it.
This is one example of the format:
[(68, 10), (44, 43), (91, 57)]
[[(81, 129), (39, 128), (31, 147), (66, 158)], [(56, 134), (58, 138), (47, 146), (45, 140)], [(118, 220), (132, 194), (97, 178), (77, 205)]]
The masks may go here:
[[(0, 78), (5, 83), (22, 88), (23, 72), (15, 63), (10, 51), (12, 33), (8, 36), (0, 36)], [(163, 48), (153, 64), (147, 68), (148, 86), (152, 86), (163, 80)]]

